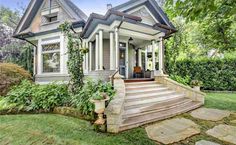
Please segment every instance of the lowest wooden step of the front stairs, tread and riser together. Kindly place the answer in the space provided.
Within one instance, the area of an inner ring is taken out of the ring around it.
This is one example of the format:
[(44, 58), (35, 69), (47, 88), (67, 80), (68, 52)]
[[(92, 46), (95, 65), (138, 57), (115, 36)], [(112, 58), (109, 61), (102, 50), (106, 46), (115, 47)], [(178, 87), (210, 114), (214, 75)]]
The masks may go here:
[(125, 119), (120, 126), (120, 131), (128, 130), (131, 128), (139, 127), (141, 125), (163, 120), (169, 117), (176, 116), (181, 113), (188, 112), (190, 110), (196, 109), (198, 107), (202, 106), (202, 103), (200, 102), (192, 102), (187, 105), (181, 105), (169, 110), (164, 110), (161, 112), (146, 114), (143, 116), (137, 116), (137, 117), (131, 117), (128, 119)]

